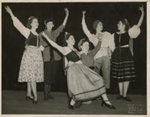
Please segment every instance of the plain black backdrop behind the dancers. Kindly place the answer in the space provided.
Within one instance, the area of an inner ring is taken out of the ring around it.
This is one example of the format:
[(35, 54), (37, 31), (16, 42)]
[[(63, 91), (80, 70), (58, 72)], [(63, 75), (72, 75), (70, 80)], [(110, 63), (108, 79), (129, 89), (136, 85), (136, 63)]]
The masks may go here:
[[(131, 26), (136, 24), (140, 17), (138, 7), (146, 3), (142, 2), (113, 2), (113, 3), (2, 3), (2, 89), (25, 90), (25, 83), (18, 83), (18, 72), (22, 54), (24, 51), (24, 37), (14, 28), (10, 16), (4, 6), (9, 5), (20, 21), (26, 25), (29, 16), (37, 16), (39, 19), (38, 32), (44, 29), (43, 21), (46, 18), (55, 19), (55, 27), (59, 26), (65, 17), (64, 8), (69, 9), (69, 19), (64, 30), (72, 33), (76, 41), (86, 37), (81, 27), (82, 10), (86, 10), (86, 22), (91, 32), (92, 23), (100, 19), (104, 24), (104, 30), (113, 33), (120, 17), (129, 20)], [(63, 42), (64, 32), (58, 38), (58, 43)], [(131, 83), (129, 93), (146, 94), (146, 13), (141, 26), (140, 36), (134, 40), (134, 59), (137, 71), (136, 82)], [(53, 91), (66, 91), (66, 77), (63, 74), (62, 63)], [(38, 85), (38, 90), (43, 90), (43, 83)], [(110, 93), (117, 93), (118, 86), (111, 80)]]

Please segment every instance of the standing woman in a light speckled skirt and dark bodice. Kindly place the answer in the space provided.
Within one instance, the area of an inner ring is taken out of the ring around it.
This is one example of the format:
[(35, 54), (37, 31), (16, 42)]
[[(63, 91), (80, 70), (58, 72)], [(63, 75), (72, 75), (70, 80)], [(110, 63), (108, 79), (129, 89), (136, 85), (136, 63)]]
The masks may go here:
[(38, 19), (34, 16), (29, 17), (27, 27), (25, 27), (14, 16), (9, 6), (6, 6), (5, 9), (10, 14), (15, 28), (26, 38), (26, 46), (21, 61), (18, 82), (27, 82), (26, 99), (32, 100), (36, 104), (38, 101), (36, 84), (44, 80), (42, 48), (39, 47), (39, 38), (36, 32), (39, 26)]

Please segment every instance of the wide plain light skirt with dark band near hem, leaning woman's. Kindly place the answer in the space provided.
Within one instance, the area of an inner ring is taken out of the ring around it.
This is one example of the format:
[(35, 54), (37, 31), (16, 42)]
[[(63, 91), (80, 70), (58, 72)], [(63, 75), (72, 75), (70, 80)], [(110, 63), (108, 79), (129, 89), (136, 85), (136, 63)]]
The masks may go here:
[(106, 93), (102, 77), (83, 64), (73, 64), (67, 71), (68, 93), (75, 101), (88, 101)]

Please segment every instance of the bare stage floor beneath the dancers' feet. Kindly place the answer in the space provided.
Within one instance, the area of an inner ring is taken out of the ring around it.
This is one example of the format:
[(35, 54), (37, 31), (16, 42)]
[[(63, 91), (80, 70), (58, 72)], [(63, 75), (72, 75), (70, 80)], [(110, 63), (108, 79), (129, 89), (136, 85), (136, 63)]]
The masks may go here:
[(74, 110), (68, 109), (68, 97), (63, 92), (52, 92), (55, 100), (44, 101), (43, 92), (38, 92), (39, 101), (33, 104), (25, 100), (26, 91), (2, 91), (2, 114), (64, 114), (64, 115), (146, 115), (147, 103), (145, 95), (129, 95), (132, 102), (116, 100), (116, 95), (108, 94), (110, 101), (116, 106), (116, 110), (101, 107), (101, 100), (95, 100), (92, 104), (82, 105)]

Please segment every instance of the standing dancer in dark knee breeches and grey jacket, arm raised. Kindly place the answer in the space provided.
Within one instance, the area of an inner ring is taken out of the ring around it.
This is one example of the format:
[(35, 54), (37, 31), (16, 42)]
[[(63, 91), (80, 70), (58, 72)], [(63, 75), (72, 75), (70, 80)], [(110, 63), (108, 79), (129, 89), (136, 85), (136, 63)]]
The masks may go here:
[[(58, 36), (60, 33), (64, 30), (68, 17), (69, 17), (69, 10), (67, 8), (64, 9), (65, 11), (65, 18), (63, 23), (57, 27), (57, 29), (53, 30), (55, 24), (54, 20), (52, 18), (46, 19), (44, 21), (45, 24), (45, 34), (56, 42)], [(55, 78), (57, 76), (57, 72), (60, 65), (61, 55), (60, 53), (52, 48), (47, 40), (42, 38), (41, 34), (40, 37), (40, 43), (44, 47), (43, 50), (43, 60), (44, 60), (44, 100), (54, 99), (54, 97), (51, 95), (51, 88), (52, 84), (55, 82)]]

